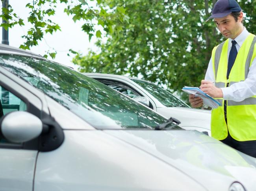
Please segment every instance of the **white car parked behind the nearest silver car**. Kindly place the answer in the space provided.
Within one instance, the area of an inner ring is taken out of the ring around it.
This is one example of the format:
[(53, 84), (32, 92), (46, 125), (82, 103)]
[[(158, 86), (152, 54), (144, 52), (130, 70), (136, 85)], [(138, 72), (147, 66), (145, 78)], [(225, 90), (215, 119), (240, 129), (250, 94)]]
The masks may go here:
[(152, 82), (121, 75), (102, 73), (83, 74), (131, 98), (135, 98), (135, 100), (137, 100), (136, 97), (141, 99), (141, 96), (147, 98), (149, 101), (148, 107), (167, 118), (177, 118), (181, 122), (180, 126), (184, 129), (195, 129), (211, 135), (211, 111), (191, 108), (169, 91)]

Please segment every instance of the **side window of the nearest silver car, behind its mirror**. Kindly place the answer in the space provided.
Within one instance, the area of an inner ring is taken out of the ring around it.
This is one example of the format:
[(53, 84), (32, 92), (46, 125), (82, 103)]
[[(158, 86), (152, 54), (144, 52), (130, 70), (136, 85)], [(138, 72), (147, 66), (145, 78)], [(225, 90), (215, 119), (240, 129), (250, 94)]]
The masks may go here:
[[(4, 87), (0, 86), (0, 120), (12, 111), (26, 111), (27, 106), (18, 96), (14, 95)], [(8, 141), (0, 133), (0, 144)]]

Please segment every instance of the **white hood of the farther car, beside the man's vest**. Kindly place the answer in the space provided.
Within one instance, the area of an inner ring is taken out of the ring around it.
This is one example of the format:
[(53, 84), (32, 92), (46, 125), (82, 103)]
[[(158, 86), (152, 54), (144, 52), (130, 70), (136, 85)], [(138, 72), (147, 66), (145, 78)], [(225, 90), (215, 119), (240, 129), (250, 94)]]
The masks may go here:
[(209, 110), (188, 107), (158, 107), (157, 112), (167, 118), (177, 118), (182, 127), (201, 127), (211, 130), (211, 111)]

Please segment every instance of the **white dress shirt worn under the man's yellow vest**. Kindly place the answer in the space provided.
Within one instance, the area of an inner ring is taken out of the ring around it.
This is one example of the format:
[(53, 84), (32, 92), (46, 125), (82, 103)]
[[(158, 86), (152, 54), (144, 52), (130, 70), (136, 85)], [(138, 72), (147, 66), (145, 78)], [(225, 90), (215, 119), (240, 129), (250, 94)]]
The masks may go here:
[[(244, 27), (242, 33), (238, 35), (234, 40), (236, 40), (236, 49), (237, 52), (239, 51), (241, 45), (249, 35), (249, 32), (246, 30)], [(228, 55), (227, 55), (227, 60), (228, 56), (230, 53), (230, 49), (232, 47), (232, 41), (233, 39), (230, 39), (228, 42)], [(205, 80), (208, 81), (215, 81), (215, 76), (213, 73), (213, 67), (212, 67), (212, 59), (210, 59), (206, 75), (205, 75)], [(249, 73), (245, 81), (243, 82), (237, 82), (235, 84), (230, 85), (230, 87), (223, 87), (221, 88), (222, 93), (223, 93), (223, 99), (224, 100), (233, 100), (236, 102), (241, 102), (245, 98), (249, 98), (251, 96), (256, 95), (256, 58), (252, 61), (252, 65), (249, 68)]]

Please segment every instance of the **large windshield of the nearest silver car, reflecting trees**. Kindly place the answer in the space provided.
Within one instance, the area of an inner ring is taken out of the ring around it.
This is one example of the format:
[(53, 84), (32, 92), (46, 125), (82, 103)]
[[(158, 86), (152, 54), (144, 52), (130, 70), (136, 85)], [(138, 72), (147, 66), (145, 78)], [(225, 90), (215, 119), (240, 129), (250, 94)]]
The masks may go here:
[(97, 129), (154, 129), (166, 121), (127, 96), (64, 65), (20, 55), (0, 55), (0, 64)]

